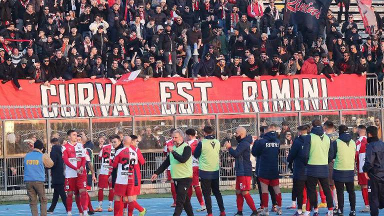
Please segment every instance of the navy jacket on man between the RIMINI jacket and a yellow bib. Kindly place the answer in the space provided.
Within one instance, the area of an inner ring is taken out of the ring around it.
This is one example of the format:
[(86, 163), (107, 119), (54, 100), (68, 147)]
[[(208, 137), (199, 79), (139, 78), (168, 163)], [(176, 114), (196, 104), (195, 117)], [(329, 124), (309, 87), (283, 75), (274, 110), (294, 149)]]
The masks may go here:
[(305, 164), (301, 157), (306, 136), (307, 134), (302, 134), (294, 139), (289, 154), (286, 157), (286, 161), (288, 161), (289, 164), (293, 163), (293, 179), (306, 180)]

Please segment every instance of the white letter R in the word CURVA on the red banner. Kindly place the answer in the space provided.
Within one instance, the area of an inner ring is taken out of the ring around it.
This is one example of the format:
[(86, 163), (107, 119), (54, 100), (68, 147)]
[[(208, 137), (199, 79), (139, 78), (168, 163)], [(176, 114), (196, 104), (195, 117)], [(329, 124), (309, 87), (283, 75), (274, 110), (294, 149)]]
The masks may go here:
[[(92, 83), (78, 83), (77, 84), (78, 91), (78, 106), (79, 116), (85, 116), (85, 107), (88, 116), (94, 116), (94, 112), (92, 107), (90, 106), (91, 101), (93, 100), (93, 85)], [(85, 97), (84, 90), (86, 89), (87, 96)], [(88, 106), (85, 106), (89, 104)]]

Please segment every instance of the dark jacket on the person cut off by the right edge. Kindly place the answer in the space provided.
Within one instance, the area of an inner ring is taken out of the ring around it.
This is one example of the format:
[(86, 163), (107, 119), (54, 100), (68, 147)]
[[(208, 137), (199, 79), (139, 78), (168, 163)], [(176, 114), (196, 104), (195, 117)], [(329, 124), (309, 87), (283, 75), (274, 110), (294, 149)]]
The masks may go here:
[(377, 136), (368, 137), (367, 141), (362, 171), (367, 172), (369, 178), (384, 182), (384, 142), (378, 140)]

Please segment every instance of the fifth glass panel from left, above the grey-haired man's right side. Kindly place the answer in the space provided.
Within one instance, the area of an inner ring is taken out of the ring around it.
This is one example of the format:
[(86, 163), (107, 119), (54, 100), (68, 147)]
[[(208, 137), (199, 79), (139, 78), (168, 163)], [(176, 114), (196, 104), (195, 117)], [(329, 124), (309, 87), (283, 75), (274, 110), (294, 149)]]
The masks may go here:
[(180, 115), (176, 116), (176, 128), (183, 131), (188, 128), (193, 128), (197, 131), (197, 138), (204, 137), (202, 128), (204, 126), (211, 126), (213, 134), (216, 134), (216, 122), (214, 115)]

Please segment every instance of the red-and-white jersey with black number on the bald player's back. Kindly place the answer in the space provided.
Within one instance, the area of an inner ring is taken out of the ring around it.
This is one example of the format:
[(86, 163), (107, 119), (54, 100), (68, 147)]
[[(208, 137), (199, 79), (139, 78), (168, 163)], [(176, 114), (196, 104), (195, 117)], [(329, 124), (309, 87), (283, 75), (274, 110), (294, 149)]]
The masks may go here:
[(135, 184), (134, 164), (137, 163), (137, 153), (130, 147), (123, 147), (115, 152), (113, 167), (117, 167), (116, 183)]

